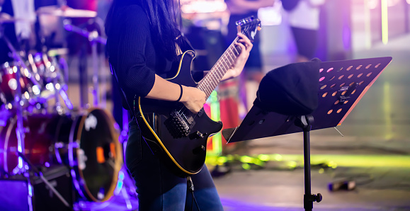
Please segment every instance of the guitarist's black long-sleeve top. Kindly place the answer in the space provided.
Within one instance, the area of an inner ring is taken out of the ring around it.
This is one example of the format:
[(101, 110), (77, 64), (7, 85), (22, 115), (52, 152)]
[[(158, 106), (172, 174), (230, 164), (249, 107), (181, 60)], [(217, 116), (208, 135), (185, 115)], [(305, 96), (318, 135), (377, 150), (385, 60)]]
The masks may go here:
[(147, 96), (154, 86), (155, 74), (171, 70), (171, 62), (156, 50), (149, 19), (138, 5), (124, 6), (113, 17), (108, 32), (108, 55), (118, 82), (132, 105), (135, 96)]

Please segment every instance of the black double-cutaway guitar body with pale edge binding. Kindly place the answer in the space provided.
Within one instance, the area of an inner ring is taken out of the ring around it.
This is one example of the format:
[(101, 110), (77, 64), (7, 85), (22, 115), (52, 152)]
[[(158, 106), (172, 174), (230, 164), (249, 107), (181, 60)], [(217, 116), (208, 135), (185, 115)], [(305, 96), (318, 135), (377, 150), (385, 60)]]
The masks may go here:
[[(194, 57), (193, 51), (184, 52), (176, 75), (168, 80), (184, 86), (196, 86), (190, 74)], [(161, 161), (178, 176), (198, 173), (205, 164), (207, 138), (222, 130), (222, 122), (211, 120), (203, 110), (193, 114), (182, 103), (171, 101), (139, 98), (138, 107), (135, 108), (137, 122), (152, 152), (159, 155)], [(193, 120), (187, 135), (178, 137), (166, 126), (173, 110), (183, 110), (185, 116)]]

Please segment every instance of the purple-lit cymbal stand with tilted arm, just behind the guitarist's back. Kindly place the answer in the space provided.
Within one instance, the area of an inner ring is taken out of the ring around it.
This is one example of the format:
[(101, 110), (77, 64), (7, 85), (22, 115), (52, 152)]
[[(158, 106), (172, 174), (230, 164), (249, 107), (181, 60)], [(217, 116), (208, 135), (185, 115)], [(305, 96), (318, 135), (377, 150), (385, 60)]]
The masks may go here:
[(79, 35), (82, 35), (85, 38), (88, 38), (89, 41), (91, 42), (91, 51), (92, 51), (92, 57), (93, 57), (93, 105), (98, 106), (99, 104), (99, 96), (100, 96), (100, 91), (98, 89), (98, 55), (97, 55), (97, 43), (101, 43), (103, 45), (107, 44), (107, 39), (106, 38), (101, 38), (98, 35), (97, 30), (93, 30), (92, 32), (89, 32), (88, 30), (84, 30), (82, 28), (79, 28), (75, 25), (71, 24), (71, 21), (68, 19), (65, 19), (63, 21), (64, 28), (67, 31), (71, 31), (74, 33), (78, 33)]

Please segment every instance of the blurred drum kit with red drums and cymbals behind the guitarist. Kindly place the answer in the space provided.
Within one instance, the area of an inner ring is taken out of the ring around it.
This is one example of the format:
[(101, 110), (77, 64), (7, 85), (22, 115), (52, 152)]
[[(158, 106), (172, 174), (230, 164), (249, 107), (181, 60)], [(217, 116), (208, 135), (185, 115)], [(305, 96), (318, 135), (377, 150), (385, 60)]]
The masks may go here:
[[(94, 11), (55, 6), (37, 13), (62, 18), (96, 16)], [(0, 16), (0, 30), (3, 23), (16, 21), (21, 20)], [(76, 32), (78, 28), (71, 29)], [(95, 38), (103, 40), (98, 35)], [(18, 52), (1, 32), (0, 39), (13, 58), (0, 65), (0, 178), (30, 179), (35, 170), (65, 165), (81, 200), (109, 200), (123, 173), (123, 147), (113, 117), (98, 107), (73, 110), (64, 59), (46, 52)]]

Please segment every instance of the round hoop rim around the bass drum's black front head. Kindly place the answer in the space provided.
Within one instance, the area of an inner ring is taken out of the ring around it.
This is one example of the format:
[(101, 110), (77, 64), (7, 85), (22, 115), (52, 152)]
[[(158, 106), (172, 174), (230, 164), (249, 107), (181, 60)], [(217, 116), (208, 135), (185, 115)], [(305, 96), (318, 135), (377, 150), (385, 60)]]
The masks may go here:
[[(82, 132), (82, 128), (84, 127), (84, 123), (86, 118), (88, 117), (88, 115), (94, 111), (94, 110), (101, 110), (102, 113), (104, 113), (106, 120), (110, 120), (110, 122), (115, 122), (114, 118), (111, 115), (108, 115), (108, 113), (106, 112), (106, 110), (103, 110), (101, 108), (89, 108), (86, 110), (86, 113), (84, 115), (81, 116), (81, 120), (79, 122), (79, 127), (77, 128), (77, 137), (76, 140), (81, 140), (81, 132)], [(113, 181), (111, 181), (111, 185), (110, 188), (108, 189), (106, 195), (104, 195), (104, 198), (101, 200), (98, 200), (97, 198), (95, 198), (92, 194), (91, 191), (89, 190), (87, 184), (86, 184), (86, 180), (84, 178), (84, 174), (83, 171), (79, 168), (77, 171), (79, 172), (79, 176), (81, 177), (81, 179), (84, 181), (84, 185), (82, 186), (84, 188), (84, 190), (86, 190), (87, 195), (89, 196), (89, 198), (91, 198), (91, 200), (95, 201), (95, 202), (104, 202), (106, 200), (109, 200), (111, 197), (113, 197), (114, 195), (114, 190), (117, 187), (117, 183), (118, 183), (118, 173), (120, 173), (121, 170), (121, 166), (123, 166), (123, 153), (121, 152), (121, 144), (119, 142), (119, 137), (120, 134), (119, 132), (117, 132), (117, 130), (115, 130), (115, 127), (113, 124), (108, 124), (110, 127), (110, 132), (111, 135), (113, 135), (113, 143), (115, 144), (115, 148), (116, 148), (116, 157), (115, 157), (115, 166), (113, 166), (114, 169), (114, 175), (113, 175)], [(75, 126), (74, 126), (75, 127)], [(79, 130), (81, 128), (81, 130)], [(72, 140), (74, 141), (74, 139)], [(76, 156), (79, 156), (79, 151), (76, 150)]]

